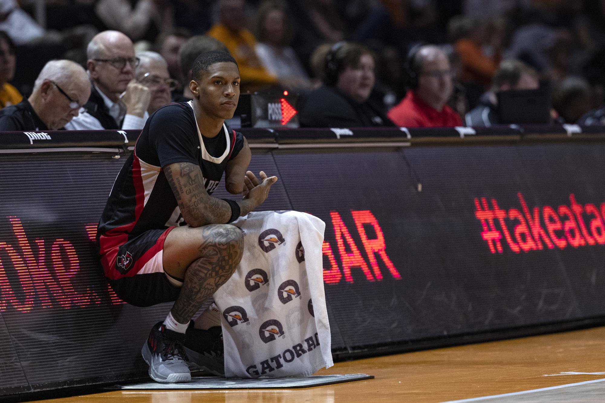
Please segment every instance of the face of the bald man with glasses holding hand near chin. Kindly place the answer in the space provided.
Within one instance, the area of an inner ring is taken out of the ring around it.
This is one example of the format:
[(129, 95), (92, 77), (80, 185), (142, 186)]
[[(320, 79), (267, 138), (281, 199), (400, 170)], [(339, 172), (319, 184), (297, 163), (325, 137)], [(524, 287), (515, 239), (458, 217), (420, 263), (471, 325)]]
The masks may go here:
[(108, 97), (110, 94), (122, 94), (134, 78), (134, 69), (138, 64), (134, 57), (134, 45), (125, 35), (111, 39), (102, 37), (99, 41), (103, 51), (99, 57), (87, 62), (90, 77)]

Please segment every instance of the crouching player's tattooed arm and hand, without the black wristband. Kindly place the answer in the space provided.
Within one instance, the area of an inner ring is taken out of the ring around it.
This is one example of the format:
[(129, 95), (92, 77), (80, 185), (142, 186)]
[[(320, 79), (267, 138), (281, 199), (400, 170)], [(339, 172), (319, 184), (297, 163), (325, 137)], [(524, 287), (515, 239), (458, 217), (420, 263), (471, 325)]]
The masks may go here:
[[(208, 195), (200, 166), (192, 163), (173, 163), (163, 167), (163, 171), (177, 199), (181, 214), (190, 227), (224, 224), (229, 221), (231, 206), (224, 200)], [(267, 198), (269, 187), (276, 180), (275, 176), (264, 179), (255, 185), (243, 200), (238, 201), (240, 216), (245, 216), (257, 208)]]

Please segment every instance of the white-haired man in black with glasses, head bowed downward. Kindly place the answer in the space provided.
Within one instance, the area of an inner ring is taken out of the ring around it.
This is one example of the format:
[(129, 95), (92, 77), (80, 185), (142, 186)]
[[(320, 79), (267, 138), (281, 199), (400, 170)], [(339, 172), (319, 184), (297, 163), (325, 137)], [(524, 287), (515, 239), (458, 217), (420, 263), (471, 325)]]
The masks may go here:
[(70, 60), (46, 63), (30, 97), (0, 111), (0, 131), (62, 129), (90, 97), (86, 71)]

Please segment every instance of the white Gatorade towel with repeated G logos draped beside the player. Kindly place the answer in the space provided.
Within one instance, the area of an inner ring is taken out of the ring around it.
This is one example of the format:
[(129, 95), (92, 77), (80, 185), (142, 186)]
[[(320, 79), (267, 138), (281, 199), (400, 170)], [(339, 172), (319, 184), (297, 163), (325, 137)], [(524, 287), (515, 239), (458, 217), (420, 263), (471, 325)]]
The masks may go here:
[(254, 211), (234, 275), (214, 294), (227, 378), (309, 376), (333, 366), (325, 306), (325, 223), (298, 211)]

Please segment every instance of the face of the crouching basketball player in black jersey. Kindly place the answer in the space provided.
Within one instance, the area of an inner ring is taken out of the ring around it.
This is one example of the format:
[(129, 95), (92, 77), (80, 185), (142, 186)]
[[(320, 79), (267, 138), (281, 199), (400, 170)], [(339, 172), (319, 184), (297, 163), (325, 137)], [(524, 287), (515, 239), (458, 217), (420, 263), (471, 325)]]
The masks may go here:
[(240, 70), (235, 63), (214, 63), (197, 82), (198, 103), (206, 114), (231, 119), (240, 98)]

